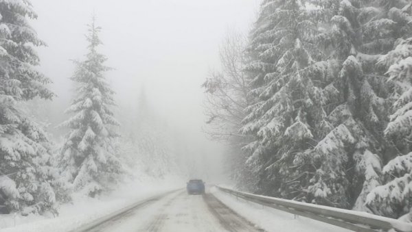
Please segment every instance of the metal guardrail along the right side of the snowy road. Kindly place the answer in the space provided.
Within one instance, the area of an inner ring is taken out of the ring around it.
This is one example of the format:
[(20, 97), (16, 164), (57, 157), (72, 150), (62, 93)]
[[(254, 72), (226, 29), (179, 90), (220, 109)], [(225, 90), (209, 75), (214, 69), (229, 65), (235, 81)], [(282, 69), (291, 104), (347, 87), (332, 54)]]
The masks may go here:
[(399, 231), (412, 232), (412, 223), (402, 222), (393, 218), (385, 218), (365, 212), (353, 211), (348, 209), (338, 209), (323, 205), (301, 203), (298, 201), (284, 200), (269, 196), (249, 194), (239, 192), (229, 188), (216, 186), (219, 190), (234, 196), (244, 198), (260, 205), (279, 209), (306, 218), (312, 218), (337, 227), (343, 227), (352, 231), (372, 232), (372, 231)]

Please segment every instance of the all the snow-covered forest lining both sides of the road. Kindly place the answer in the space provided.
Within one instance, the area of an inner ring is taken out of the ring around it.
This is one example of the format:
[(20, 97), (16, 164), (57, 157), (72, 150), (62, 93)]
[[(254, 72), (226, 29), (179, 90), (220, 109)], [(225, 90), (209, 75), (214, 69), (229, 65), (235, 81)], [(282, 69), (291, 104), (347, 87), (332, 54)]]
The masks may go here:
[[(95, 198), (143, 172), (204, 165), (183, 160), (191, 135), (164, 123), (144, 90), (116, 114), (94, 17), (56, 140), (36, 117), (56, 97), (38, 70), (46, 44), (36, 18), (29, 0), (0, 1), (1, 213), (58, 215), (73, 193)], [(205, 132), (225, 143), (237, 188), (391, 218), (412, 212), (411, 1), (262, 0), (249, 34), (231, 31), (219, 55), (202, 85)]]

